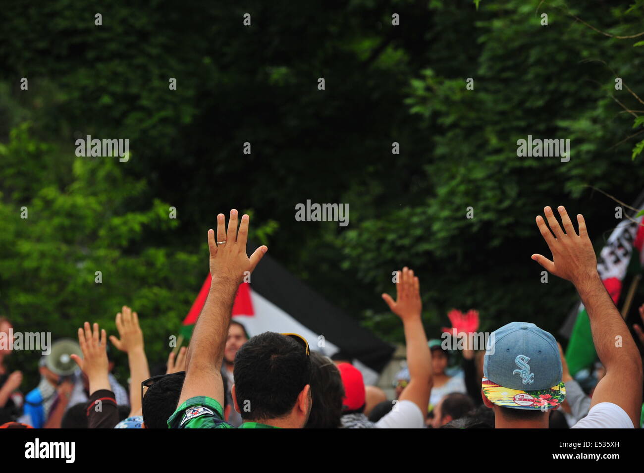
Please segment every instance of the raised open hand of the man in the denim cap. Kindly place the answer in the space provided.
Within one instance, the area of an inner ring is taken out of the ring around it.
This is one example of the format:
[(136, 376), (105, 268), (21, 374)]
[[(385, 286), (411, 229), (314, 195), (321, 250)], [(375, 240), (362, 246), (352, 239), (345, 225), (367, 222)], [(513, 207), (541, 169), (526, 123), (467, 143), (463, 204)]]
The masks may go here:
[(567, 279), (575, 286), (585, 281), (597, 279), (597, 258), (592, 249), (582, 214), (577, 215), (579, 225), (579, 235), (577, 235), (564, 207), (560, 206), (558, 210), (564, 225), (563, 229), (550, 207), (544, 208), (545, 218), (548, 220), (550, 229), (545, 225), (542, 216), (536, 218), (536, 225), (553, 254), (553, 261), (540, 254), (533, 254), (532, 259), (541, 264), (547, 272)]

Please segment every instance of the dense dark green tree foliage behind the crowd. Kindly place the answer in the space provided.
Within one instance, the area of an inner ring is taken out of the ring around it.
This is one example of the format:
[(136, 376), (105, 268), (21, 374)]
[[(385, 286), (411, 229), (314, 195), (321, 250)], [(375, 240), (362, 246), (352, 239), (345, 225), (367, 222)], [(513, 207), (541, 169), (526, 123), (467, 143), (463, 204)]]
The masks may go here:
[[(484, 329), (556, 331), (576, 295), (540, 282), (534, 218), (583, 212), (599, 247), (617, 204), (588, 186), (626, 203), (642, 189), (642, 3), (6, 5), (0, 312), (73, 337), (129, 304), (163, 358), (207, 272), (205, 232), (236, 207), (274, 257), (388, 340), (402, 334), (380, 293), (405, 264), (432, 336), (452, 307), (478, 308)], [(129, 161), (75, 156), (87, 134), (129, 139)], [(571, 160), (518, 157), (528, 135), (570, 139)], [(296, 221), (307, 199), (348, 203), (348, 227)]]

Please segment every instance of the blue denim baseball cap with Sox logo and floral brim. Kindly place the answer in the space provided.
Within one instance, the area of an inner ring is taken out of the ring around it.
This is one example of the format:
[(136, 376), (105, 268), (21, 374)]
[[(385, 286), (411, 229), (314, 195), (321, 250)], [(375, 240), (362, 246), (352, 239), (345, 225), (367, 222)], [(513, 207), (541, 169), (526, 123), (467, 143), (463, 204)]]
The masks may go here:
[(511, 409), (549, 411), (565, 399), (562, 360), (553, 335), (529, 322), (511, 322), (490, 334), (482, 389)]

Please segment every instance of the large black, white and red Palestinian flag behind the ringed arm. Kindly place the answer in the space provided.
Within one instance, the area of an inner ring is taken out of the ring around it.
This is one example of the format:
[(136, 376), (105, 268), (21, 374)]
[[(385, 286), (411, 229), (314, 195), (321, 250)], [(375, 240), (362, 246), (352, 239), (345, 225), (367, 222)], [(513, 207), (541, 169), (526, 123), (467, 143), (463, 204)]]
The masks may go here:
[[(210, 283), (209, 274), (185, 317), (181, 331), (185, 338), (192, 333)], [(241, 322), (250, 337), (265, 331), (299, 333), (314, 351), (329, 357), (341, 351), (363, 373), (365, 384), (377, 382), (395, 349), (359, 326), (268, 254), (252, 272), (251, 283), (240, 285), (232, 306), (232, 319)]]

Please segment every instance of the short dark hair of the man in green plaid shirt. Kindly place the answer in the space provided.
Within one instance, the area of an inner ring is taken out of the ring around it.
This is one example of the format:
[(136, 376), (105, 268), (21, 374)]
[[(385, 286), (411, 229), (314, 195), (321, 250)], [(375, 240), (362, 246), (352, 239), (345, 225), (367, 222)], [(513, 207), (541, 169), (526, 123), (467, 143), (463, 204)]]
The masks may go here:
[(289, 414), (310, 383), (311, 363), (296, 340), (264, 332), (237, 351), (232, 375), (242, 419), (276, 419)]

